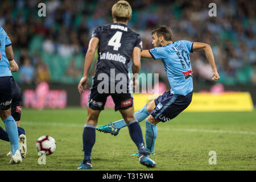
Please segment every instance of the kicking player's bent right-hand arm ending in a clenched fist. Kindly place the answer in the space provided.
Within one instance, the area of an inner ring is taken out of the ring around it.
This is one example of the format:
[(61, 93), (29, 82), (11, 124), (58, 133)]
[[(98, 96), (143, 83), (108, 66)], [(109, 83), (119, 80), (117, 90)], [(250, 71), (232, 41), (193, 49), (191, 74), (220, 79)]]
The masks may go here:
[(212, 48), (210, 48), (210, 45), (200, 42), (194, 42), (192, 50), (195, 52), (203, 51), (205, 53), (205, 56), (209, 61), (210, 67), (212, 67), (212, 80), (217, 81), (218, 79), (220, 79), (220, 76), (218, 75), (217, 68), (215, 65)]

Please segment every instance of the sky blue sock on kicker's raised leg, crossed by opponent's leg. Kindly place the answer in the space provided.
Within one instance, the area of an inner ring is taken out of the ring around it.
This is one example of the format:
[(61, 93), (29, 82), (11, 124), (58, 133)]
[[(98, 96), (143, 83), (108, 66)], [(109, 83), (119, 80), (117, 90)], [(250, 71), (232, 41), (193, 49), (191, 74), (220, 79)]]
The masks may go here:
[[(135, 118), (137, 119), (138, 122), (143, 121), (145, 118), (148, 117), (148, 115), (150, 115), (150, 113), (148, 113), (147, 109), (146, 109), (146, 104), (142, 107), (142, 109), (138, 110), (136, 113), (134, 113)], [(126, 125), (126, 122), (124, 119), (121, 119), (119, 121), (115, 121), (113, 122), (114, 127), (117, 127), (118, 129), (121, 129)]]

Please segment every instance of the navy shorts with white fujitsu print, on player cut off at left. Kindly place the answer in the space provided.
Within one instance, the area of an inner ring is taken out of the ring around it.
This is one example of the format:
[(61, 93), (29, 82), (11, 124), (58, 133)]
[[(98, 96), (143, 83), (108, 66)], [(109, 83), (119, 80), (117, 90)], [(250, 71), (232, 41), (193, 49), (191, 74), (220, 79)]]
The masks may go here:
[(12, 104), (12, 76), (2, 76), (0, 77), (0, 110), (10, 109)]

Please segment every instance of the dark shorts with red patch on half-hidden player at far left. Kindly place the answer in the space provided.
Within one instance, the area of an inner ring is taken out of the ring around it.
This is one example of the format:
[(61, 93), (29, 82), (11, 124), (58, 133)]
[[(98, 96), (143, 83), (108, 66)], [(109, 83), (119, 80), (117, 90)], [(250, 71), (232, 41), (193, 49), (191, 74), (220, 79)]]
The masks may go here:
[(19, 121), (22, 112), (22, 92), (16, 81), (13, 82), (12, 89), (13, 102), (11, 104), (11, 115), (13, 116), (15, 121)]

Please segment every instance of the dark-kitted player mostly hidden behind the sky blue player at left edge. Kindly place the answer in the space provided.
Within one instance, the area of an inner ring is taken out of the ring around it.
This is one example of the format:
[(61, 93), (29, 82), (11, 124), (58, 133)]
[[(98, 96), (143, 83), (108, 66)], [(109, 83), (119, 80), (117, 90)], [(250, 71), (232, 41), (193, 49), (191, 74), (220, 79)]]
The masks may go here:
[[(18, 71), (19, 67), (16, 64), (15, 60), (9, 61), (9, 64), (10, 64), (11, 72)], [(20, 117), (22, 113), (22, 92), (15, 80), (12, 82), (11, 87), (12, 87), (12, 99), (13, 99), (11, 104), (11, 116), (14, 118), (18, 128), (20, 154), (22, 158), (26, 158), (27, 139), (25, 135), (25, 130), (22, 127), (20, 127)], [(4, 129), (2, 129), (2, 127), (0, 127), (0, 139), (10, 142), (7, 132)], [(13, 155), (13, 151), (10, 151), (7, 154), (7, 156), (10, 156), (10, 157), (12, 155)]]

